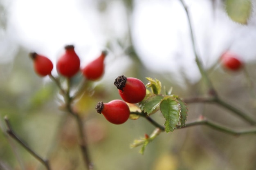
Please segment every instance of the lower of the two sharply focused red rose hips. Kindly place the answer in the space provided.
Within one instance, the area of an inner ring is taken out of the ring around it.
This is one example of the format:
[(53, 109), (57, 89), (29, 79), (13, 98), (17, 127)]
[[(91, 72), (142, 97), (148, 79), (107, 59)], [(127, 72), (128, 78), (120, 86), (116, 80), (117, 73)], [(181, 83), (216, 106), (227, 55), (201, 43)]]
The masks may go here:
[(112, 124), (123, 124), (130, 116), (129, 106), (122, 100), (112, 100), (108, 103), (99, 102), (95, 109)]

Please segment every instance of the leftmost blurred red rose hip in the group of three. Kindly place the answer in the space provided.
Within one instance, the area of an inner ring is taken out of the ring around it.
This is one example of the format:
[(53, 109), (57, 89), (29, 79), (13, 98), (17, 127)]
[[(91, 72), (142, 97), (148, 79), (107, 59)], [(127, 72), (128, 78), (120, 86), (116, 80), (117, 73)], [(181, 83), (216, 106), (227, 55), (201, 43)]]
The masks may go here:
[(52, 61), (49, 58), (39, 55), (37, 53), (30, 53), (34, 62), (34, 70), (40, 76), (46, 76), (51, 74), (53, 69)]

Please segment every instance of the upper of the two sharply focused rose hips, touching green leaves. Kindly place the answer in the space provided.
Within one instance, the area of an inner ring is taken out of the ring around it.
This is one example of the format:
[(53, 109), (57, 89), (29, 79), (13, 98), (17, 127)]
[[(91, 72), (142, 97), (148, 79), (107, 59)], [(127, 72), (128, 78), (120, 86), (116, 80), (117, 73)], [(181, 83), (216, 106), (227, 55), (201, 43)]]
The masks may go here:
[(137, 78), (118, 76), (114, 82), (119, 89), (119, 94), (128, 103), (139, 103), (146, 96), (146, 87), (143, 82)]

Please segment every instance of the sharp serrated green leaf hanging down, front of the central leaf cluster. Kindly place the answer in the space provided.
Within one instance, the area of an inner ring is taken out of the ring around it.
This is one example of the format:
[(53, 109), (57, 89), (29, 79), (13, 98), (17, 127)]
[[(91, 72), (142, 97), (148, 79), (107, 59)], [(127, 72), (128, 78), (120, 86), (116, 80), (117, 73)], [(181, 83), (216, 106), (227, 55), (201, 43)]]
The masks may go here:
[(165, 131), (170, 132), (177, 128), (180, 123), (180, 103), (174, 97), (166, 96), (160, 104), (160, 111), (166, 119)]

